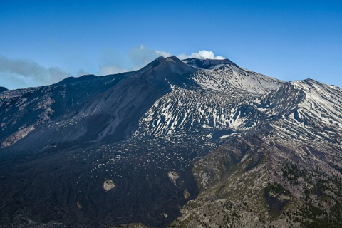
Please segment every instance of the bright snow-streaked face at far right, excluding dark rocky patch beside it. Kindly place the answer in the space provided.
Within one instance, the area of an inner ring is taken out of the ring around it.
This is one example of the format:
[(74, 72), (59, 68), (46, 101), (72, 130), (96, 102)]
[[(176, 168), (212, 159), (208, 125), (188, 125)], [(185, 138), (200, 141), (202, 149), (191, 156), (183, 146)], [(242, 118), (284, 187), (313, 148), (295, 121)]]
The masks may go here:
[(274, 128), (291, 138), (338, 140), (342, 133), (341, 88), (310, 79), (291, 82), (291, 86), (297, 93), (300, 91), (303, 98), (279, 121), (272, 123)]

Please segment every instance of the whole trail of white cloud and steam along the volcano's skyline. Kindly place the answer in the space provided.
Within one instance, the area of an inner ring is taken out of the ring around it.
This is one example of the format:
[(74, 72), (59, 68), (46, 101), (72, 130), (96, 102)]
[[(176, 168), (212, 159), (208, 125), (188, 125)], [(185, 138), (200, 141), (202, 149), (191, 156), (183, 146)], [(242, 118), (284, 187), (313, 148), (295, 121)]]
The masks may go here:
[[(113, 50), (105, 51), (98, 69), (95, 70), (97, 72), (87, 72), (81, 69), (76, 72), (76, 75), (71, 75), (71, 73), (63, 71), (58, 67), (46, 68), (34, 61), (12, 59), (0, 55), (0, 86), (9, 89), (44, 86), (56, 83), (70, 76), (82, 76), (90, 73), (105, 76), (108, 74), (135, 71), (146, 66), (159, 56), (166, 58), (172, 56), (172, 54), (165, 51), (152, 50), (144, 45), (131, 48), (127, 55), (120, 55)], [(177, 58), (224, 59), (223, 56), (215, 56), (212, 51), (207, 50), (190, 55), (182, 53)]]

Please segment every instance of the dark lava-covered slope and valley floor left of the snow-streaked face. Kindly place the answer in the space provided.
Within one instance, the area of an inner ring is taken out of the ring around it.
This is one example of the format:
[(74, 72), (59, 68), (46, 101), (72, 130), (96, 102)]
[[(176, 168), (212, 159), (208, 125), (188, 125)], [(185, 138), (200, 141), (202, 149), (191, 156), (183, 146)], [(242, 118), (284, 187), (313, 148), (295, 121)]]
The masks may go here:
[[(0, 202), (13, 205), (0, 209), (5, 224), (17, 212), (37, 224), (170, 224), (197, 196), (190, 161), (212, 145), (125, 140), (172, 85), (197, 86), (193, 73), (175, 57), (158, 58), (140, 71), (66, 78), (1, 97)], [(167, 177), (170, 170), (180, 174), (177, 186)], [(108, 179), (115, 187), (107, 192)]]

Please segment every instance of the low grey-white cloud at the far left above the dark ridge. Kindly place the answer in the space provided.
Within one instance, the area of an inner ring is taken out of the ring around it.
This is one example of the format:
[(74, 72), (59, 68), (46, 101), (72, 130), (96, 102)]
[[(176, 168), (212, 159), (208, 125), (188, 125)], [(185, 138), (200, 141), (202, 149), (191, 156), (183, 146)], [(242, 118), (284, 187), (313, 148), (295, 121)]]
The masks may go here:
[(0, 86), (9, 89), (43, 86), (69, 76), (71, 74), (58, 67), (46, 68), (34, 61), (0, 55)]

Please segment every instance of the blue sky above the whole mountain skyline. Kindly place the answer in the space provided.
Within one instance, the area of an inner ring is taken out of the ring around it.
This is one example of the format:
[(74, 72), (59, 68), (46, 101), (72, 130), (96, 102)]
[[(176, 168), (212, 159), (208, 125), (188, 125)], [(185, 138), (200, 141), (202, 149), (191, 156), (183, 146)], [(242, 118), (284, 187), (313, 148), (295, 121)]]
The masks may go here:
[(284, 81), (342, 87), (342, 1), (0, 1), (9, 89), (201, 50)]

